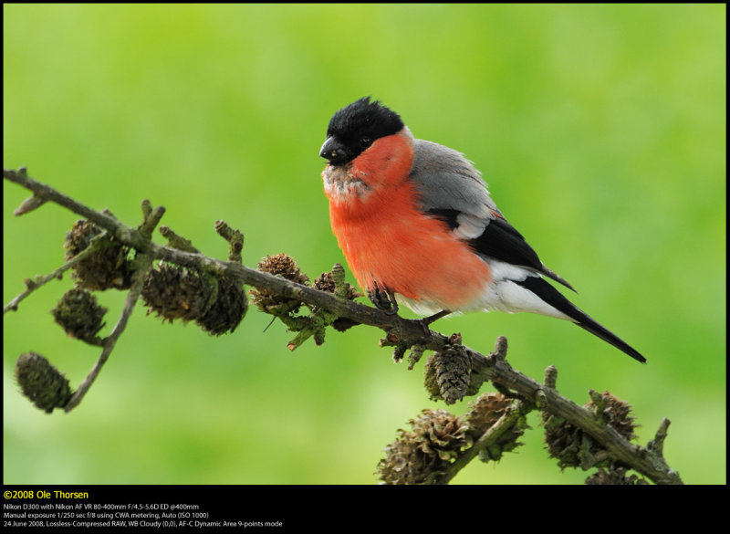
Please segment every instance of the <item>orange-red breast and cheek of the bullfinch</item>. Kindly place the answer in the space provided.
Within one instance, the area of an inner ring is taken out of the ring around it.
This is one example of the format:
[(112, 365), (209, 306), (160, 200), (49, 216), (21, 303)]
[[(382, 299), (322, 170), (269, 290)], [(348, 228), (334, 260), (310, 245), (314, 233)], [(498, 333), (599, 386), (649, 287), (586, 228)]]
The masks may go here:
[(401, 131), (349, 162), (339, 187), (328, 187), (326, 169), (332, 230), (363, 288), (377, 281), (405, 298), (464, 308), (484, 291), (489, 267), (443, 221), (419, 210), (412, 162), (412, 136)]

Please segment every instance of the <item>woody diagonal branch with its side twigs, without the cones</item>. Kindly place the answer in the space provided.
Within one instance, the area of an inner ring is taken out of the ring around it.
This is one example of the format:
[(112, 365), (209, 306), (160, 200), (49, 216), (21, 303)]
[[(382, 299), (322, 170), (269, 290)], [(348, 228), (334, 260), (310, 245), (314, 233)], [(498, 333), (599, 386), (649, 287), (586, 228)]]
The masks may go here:
[[(391, 315), (381, 309), (371, 308), (353, 302), (348, 298), (343, 298), (341, 286), (333, 294), (241, 265), (240, 246), (243, 246), (243, 236), (238, 237), (236, 241), (238, 256), (235, 257), (235, 252), (229, 255), (229, 257), (234, 257), (238, 261), (223, 261), (207, 257), (202, 253), (193, 252), (195, 249), (192, 245), (188, 246), (189, 244), (181, 245), (185, 250), (160, 246), (151, 241), (151, 230), (162, 217), (163, 208), (152, 210), (149, 202), (145, 201), (143, 203), (144, 221), (140, 228), (136, 229), (123, 225), (108, 213), (94, 211), (67, 195), (57, 192), (54, 188), (37, 182), (27, 175), (25, 168), (18, 171), (4, 170), (3, 174), (5, 180), (17, 183), (33, 193), (33, 196), (24, 203), (26, 208), (16, 210), (16, 215), (22, 215), (37, 209), (43, 204), (58, 204), (104, 228), (110, 233), (110, 236), (114, 236), (121, 244), (134, 248), (138, 253), (137, 270), (134, 273), (130, 294), (120, 319), (110, 336), (104, 340), (99, 361), (89, 372), (87, 379), (79, 386), (78, 391), (68, 401), (65, 407), (67, 412), (80, 403), (83, 396), (89, 391), (90, 385), (99, 375), (101, 367), (108, 360), (110, 352), (126, 326), (134, 303), (140, 297), (144, 277), (147, 275), (153, 260), (163, 260), (178, 266), (192, 267), (201, 272), (211, 273), (214, 277), (226, 277), (259, 290), (269, 290), (284, 298), (303, 302), (310, 309), (327, 310), (328, 320), (330, 321), (333, 318), (347, 318), (354, 323), (385, 330), (386, 339), (382, 340), (381, 344), (395, 346), (394, 355), (396, 359), (400, 360), (406, 350), (412, 349), (410, 368), (420, 357), (422, 351), (443, 351), (446, 347), (452, 347), (450, 341), (454, 341), (453, 337), (450, 340), (450, 338), (439, 332), (425, 328), (420, 320), (402, 319), (398, 315)], [(165, 232), (168, 231), (169, 229), (165, 229)], [(233, 246), (232, 241), (232, 250)], [(46, 278), (57, 277), (62, 270), (66, 270), (72, 265), (71, 262), (67, 262)], [(25, 298), (29, 292), (29, 290), (26, 290), (26, 292), (14, 298), (5, 306), (5, 311), (17, 309), (20, 300)], [(290, 346), (290, 348), (293, 349), (294, 347)], [(487, 355), (461, 345), (459, 351), (462, 351), (461, 353), (468, 357), (469, 392), (472, 392), (469, 394), (478, 392), (478, 388), (483, 382), (491, 381), (500, 391), (519, 398), (520, 405), (504, 414), (492, 428), (476, 441), (476, 445), (469, 449), (468, 455), (458, 459), (448, 469), (448, 472), (442, 477), (444, 482), (450, 480), (462, 466), (466, 465), (478, 453), (480, 448), (489, 445), (499, 435), (500, 431), (508, 428), (510, 424), (514, 424), (519, 414), (537, 408), (579, 427), (605, 447), (612, 457), (626, 466), (631, 466), (642, 475), (648, 476), (654, 482), (658, 484), (682, 483), (679, 475), (666, 465), (662, 457), (662, 443), (666, 435), (666, 428), (669, 425), (668, 420), (662, 422), (660, 430), (657, 432), (655, 439), (650, 442), (649, 447), (633, 445), (610, 424), (606, 424), (595, 412), (591, 412), (558, 394), (554, 387), (554, 376), (552, 379), (547, 380), (546, 384), (542, 384), (514, 370), (505, 360), (506, 340), (504, 338), (500, 337), (497, 340), (495, 351)], [(462, 393), (462, 396), (464, 394), (466, 393)]]

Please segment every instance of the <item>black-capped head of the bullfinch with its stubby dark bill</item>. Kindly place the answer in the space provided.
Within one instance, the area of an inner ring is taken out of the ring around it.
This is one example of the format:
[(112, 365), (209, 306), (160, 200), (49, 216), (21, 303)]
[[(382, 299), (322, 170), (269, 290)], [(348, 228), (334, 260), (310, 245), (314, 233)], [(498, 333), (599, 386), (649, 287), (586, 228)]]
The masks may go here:
[(333, 165), (351, 162), (374, 141), (403, 128), (400, 115), (370, 97), (355, 100), (332, 115), (327, 127), (327, 141), (319, 155)]

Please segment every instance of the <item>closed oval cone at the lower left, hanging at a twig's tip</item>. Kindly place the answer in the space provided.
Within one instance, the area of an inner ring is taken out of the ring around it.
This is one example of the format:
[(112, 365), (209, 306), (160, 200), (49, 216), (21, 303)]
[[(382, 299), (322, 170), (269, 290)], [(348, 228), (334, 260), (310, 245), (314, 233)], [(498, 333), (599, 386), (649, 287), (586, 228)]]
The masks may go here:
[(66, 406), (73, 394), (68, 379), (36, 352), (18, 357), (16, 381), (23, 394), (47, 414)]

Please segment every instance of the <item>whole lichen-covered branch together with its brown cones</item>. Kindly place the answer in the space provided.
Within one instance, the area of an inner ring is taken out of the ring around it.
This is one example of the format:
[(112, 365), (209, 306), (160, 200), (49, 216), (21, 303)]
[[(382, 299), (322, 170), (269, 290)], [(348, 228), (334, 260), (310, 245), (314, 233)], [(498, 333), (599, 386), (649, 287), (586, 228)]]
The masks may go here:
[[(154, 243), (152, 231), (164, 208), (152, 208), (149, 201), (142, 203), (142, 223), (135, 228), (122, 224), (109, 212), (92, 210), (37, 182), (24, 168), (4, 170), (3, 174), (5, 180), (33, 194), (16, 215), (58, 204), (86, 219), (70, 233), (67, 263), (47, 277), (26, 282), (26, 290), (8, 303), (4, 312), (18, 309), (23, 298), (68, 268), (74, 269), (81, 288), (129, 290), (115, 327), (99, 341), (99, 361), (76, 392), (42, 356), (29, 352), (18, 359), (16, 376), (24, 393), (47, 412), (55, 407), (68, 412), (78, 406), (109, 359), (139, 298), (163, 319), (195, 320), (203, 330), (220, 335), (235, 330), (243, 319), (247, 309), (242, 290), (245, 285), (255, 288), (252, 293), (259, 309), (297, 332), (287, 345), (290, 350), (309, 338), (320, 344), (329, 326), (343, 331), (369, 325), (385, 331), (381, 345), (394, 347), (396, 360), (411, 352), (409, 369), (424, 351), (434, 351), (425, 365), (427, 390), (434, 398), (454, 403), (479, 393), (485, 381), (495, 385), (500, 393), (479, 397), (464, 420), (443, 410), (425, 411), (412, 420), (413, 431), (400, 431), (399, 439), (389, 445), (388, 456), (381, 461), (379, 471), (386, 482), (446, 483), (475, 457), (498, 459), (518, 445), (516, 438), (527, 426), (525, 415), (539, 410), (546, 433), (553, 436), (548, 443), (550, 454), (561, 466), (608, 468), (594, 476), (593, 482), (627, 480), (624, 474), (630, 467), (658, 484), (682, 483), (662, 456), (668, 420), (662, 421), (649, 445), (635, 445), (631, 443), (631, 418), (627, 419), (628, 409), (623, 404), (608, 393), (592, 393), (591, 403), (579, 406), (555, 389), (554, 368), (548, 368), (544, 383), (517, 372), (506, 361), (506, 339), (502, 337), (497, 339), (495, 351), (482, 354), (464, 345), (458, 334), (444, 336), (420, 320), (402, 319), (355, 302), (360, 295), (344, 281), (339, 266), (319, 277), (314, 287), (284, 255), (267, 258), (268, 263), (259, 264), (258, 269), (245, 267), (241, 263), (243, 235), (222, 221), (216, 222), (216, 231), (229, 243), (227, 261), (205, 256), (166, 226), (161, 227), (161, 233), (168, 245)], [(297, 315), (299, 309), (308, 315)], [(95, 333), (98, 329), (95, 324), (87, 330)], [(98, 341), (90, 334), (87, 338)]]

